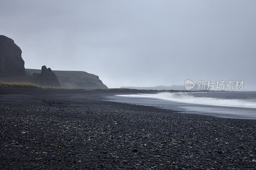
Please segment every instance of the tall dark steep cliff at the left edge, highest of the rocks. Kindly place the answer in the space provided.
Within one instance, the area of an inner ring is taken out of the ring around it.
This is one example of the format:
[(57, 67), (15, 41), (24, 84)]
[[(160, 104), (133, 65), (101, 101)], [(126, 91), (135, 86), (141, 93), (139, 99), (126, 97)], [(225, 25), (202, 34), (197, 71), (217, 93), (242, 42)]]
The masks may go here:
[(21, 49), (11, 38), (0, 35), (0, 77), (25, 75)]

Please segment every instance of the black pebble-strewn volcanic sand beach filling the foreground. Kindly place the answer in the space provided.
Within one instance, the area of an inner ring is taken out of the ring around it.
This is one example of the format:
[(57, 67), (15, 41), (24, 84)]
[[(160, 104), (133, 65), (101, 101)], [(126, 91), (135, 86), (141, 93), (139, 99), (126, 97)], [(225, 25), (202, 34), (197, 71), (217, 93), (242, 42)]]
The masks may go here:
[(136, 92), (1, 88), (0, 169), (256, 169), (256, 120), (101, 97)]

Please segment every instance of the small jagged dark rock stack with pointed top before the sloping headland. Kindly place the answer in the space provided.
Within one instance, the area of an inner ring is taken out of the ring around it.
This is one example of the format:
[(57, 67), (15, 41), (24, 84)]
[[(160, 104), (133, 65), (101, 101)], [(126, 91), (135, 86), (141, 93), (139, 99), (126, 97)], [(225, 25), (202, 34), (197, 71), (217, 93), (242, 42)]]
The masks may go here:
[(60, 87), (60, 83), (56, 75), (52, 72), (51, 68), (46, 68), (42, 66), (41, 73), (33, 73), (33, 76), (36, 77), (35, 83), (42, 86), (54, 86)]

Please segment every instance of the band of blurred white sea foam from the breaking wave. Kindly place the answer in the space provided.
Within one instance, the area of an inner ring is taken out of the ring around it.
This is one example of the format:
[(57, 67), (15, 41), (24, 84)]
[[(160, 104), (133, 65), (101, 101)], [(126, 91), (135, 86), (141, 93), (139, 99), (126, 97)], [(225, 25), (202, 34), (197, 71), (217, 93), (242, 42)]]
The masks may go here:
[(155, 99), (169, 100), (169, 101), (179, 102), (179, 103), (211, 105), (211, 106), (256, 108), (255, 100), (195, 97), (192, 94), (185, 93), (185, 92), (176, 92), (176, 93), (162, 92), (157, 94), (140, 94), (139, 93), (139, 94), (129, 94), (129, 95), (116, 95), (116, 96), (155, 98)]

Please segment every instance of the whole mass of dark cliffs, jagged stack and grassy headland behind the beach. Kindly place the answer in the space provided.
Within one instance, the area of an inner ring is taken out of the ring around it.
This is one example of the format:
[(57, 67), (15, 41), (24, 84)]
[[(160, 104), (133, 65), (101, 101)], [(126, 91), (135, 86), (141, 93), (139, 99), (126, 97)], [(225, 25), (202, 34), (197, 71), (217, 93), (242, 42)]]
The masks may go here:
[(42, 70), (25, 69), (20, 47), (4, 35), (0, 35), (0, 82), (33, 83), (64, 88), (108, 88), (99, 76), (84, 71), (52, 71), (46, 66), (43, 66)]

